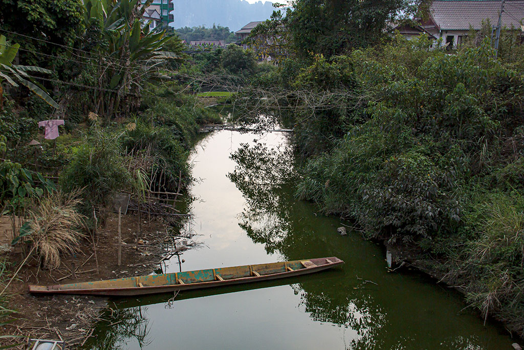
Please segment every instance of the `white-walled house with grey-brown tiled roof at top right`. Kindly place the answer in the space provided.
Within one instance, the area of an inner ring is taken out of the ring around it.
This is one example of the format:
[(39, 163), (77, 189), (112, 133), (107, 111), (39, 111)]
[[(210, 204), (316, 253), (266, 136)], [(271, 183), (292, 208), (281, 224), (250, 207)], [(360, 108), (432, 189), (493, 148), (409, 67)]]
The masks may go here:
[[(497, 25), (502, 1), (491, 0), (433, 0), (429, 19), (421, 29), (435, 38), (442, 38), (442, 45), (456, 48), (462, 44), (470, 27), (482, 29), (483, 20)], [(502, 27), (524, 31), (524, 0), (506, 0), (502, 13)]]

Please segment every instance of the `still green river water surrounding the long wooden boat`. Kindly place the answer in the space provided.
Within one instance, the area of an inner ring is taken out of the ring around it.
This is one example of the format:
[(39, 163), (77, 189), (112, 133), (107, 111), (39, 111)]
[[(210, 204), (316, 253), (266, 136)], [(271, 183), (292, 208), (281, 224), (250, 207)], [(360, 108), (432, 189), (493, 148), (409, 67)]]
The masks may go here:
[[(416, 272), (388, 273), (384, 249), (356, 232), (337, 234), (339, 218), (316, 215), (291, 188), (264, 196), (226, 176), (241, 143), (285, 143), (219, 131), (192, 155), (192, 229), (199, 249), (182, 270), (336, 256), (342, 268), (288, 280), (111, 300), (89, 349), (511, 349), (508, 333), (484, 325), (456, 292)], [(347, 223), (345, 223), (347, 224)], [(178, 259), (167, 272), (179, 271)], [(370, 281), (370, 282), (365, 282)]]

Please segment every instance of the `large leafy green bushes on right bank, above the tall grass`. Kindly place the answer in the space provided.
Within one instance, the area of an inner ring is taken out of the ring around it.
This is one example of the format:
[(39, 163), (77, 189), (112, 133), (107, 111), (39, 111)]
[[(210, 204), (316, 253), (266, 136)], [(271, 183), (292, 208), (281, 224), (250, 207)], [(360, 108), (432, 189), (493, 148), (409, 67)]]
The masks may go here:
[[(324, 121), (331, 128), (323, 129), (324, 140), (340, 141), (308, 162), (299, 195), (389, 238), (453, 232), (461, 220), (457, 198), (472, 176), (494, 174), (512, 188), (519, 187), (522, 176), (520, 158), (495, 157), (501, 140), (513, 135), (515, 121), (523, 119), (522, 77), (493, 60), (486, 46), (443, 56), (425, 50), (423, 40), (413, 49), (411, 56), (417, 58), (403, 66), (402, 46), (397, 57), (386, 46), (379, 50), (384, 56), (369, 49), (366, 55), (356, 51), (324, 63), (329, 74), (319, 72), (317, 60), (297, 79), (309, 89), (340, 90), (338, 71), (345, 69), (357, 81), (349, 80), (346, 89), (362, 88), (375, 100), (359, 114), (363, 124), (347, 113), (338, 120), (315, 115), (309, 124)], [(391, 62), (394, 70), (388, 69)], [(305, 72), (314, 73), (308, 77)], [(343, 139), (336, 128), (346, 134)], [(296, 137), (319, 143), (319, 135), (300, 126)]]

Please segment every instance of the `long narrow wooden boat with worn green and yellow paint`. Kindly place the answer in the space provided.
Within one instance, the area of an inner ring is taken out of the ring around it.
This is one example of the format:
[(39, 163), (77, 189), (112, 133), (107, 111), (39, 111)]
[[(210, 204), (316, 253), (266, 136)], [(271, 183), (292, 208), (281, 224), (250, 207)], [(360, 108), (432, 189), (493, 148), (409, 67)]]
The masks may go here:
[(336, 257), (267, 264), (235, 266), (218, 269), (194, 270), (174, 273), (118, 278), (114, 280), (81, 282), (57, 285), (29, 285), (35, 294), (90, 294), (90, 295), (143, 295), (220, 287), (223, 285), (276, 280), (329, 269), (344, 261)]

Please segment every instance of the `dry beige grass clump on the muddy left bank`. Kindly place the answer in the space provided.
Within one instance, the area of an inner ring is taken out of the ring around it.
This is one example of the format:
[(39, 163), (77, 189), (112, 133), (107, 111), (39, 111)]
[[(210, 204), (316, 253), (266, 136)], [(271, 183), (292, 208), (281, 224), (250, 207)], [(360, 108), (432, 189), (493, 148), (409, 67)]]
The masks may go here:
[(25, 232), (20, 233), (27, 235), (43, 266), (57, 268), (62, 254), (78, 251), (85, 219), (76, 209), (80, 203), (77, 192), (54, 192), (29, 211), (29, 220), (23, 226)]

